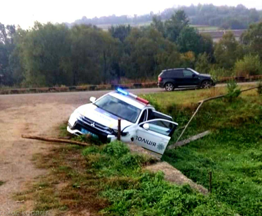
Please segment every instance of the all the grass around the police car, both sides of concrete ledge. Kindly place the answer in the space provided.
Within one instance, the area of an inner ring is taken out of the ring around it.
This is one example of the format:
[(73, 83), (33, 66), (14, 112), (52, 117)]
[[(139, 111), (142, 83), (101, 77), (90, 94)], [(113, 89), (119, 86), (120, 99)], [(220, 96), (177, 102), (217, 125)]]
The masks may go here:
[[(163, 92), (147, 97), (182, 126), (199, 99), (223, 91)], [(15, 199), (26, 203), (33, 200), (35, 210), (53, 214), (257, 215), (261, 211), (259, 111), (261, 100), (255, 91), (246, 92), (231, 104), (223, 100), (209, 102), (184, 137), (210, 127), (214, 132), (188, 146), (167, 151), (163, 157), (206, 187), (207, 172), (212, 170), (214, 193), (209, 196), (187, 185), (170, 184), (161, 173), (145, 171), (143, 167), (155, 161), (130, 153), (123, 143), (98, 143), (86, 148), (62, 145), (48, 155), (35, 155), (36, 165), (49, 172)], [(64, 126), (61, 129), (65, 131)]]

